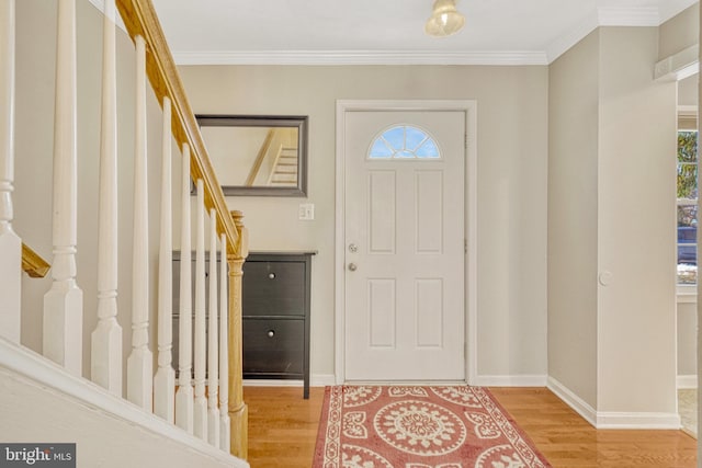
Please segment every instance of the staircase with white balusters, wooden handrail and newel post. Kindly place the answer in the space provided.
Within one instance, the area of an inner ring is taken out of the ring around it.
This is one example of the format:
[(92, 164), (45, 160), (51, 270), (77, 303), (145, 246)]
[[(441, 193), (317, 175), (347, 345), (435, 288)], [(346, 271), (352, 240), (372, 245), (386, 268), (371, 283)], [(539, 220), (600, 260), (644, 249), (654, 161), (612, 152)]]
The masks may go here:
[(247, 254), (150, 0), (0, 0), (0, 442), (248, 467)]

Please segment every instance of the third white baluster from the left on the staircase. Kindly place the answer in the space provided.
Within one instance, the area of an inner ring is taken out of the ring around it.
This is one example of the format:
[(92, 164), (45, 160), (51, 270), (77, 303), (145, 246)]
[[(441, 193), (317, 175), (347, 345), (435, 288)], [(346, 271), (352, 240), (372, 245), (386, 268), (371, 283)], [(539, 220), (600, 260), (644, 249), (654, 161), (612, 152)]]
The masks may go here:
[(117, 84), (114, 0), (105, 1), (98, 225), (98, 327), (91, 335), (90, 378), (122, 395), (122, 327), (117, 323)]

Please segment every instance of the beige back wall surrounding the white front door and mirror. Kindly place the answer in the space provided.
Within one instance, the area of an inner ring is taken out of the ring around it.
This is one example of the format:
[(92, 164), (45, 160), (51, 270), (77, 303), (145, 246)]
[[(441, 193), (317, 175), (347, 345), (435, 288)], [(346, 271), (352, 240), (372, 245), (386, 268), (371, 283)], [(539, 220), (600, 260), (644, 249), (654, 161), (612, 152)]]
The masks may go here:
[(309, 194), (229, 198), (251, 249), (314, 249), (312, 372), (333, 374), (336, 101), (475, 99), (478, 105), (478, 369), (546, 373), (546, 67), (182, 67), (195, 113), (309, 115)]

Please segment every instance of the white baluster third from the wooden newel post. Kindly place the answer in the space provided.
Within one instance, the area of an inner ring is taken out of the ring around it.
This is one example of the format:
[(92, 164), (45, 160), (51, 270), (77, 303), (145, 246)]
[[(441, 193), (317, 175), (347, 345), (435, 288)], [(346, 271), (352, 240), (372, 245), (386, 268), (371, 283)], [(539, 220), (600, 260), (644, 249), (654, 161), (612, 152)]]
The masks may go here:
[(202, 179), (197, 180), (195, 215), (195, 408), (194, 434), (207, 440), (207, 399), (205, 398), (205, 196)]

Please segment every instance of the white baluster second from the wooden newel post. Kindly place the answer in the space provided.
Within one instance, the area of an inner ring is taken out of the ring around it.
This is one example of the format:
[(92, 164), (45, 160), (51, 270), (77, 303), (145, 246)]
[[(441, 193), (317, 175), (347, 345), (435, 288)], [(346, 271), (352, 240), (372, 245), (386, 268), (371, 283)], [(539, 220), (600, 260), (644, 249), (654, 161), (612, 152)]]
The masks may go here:
[(210, 328), (207, 329), (207, 441), (219, 447), (219, 385), (217, 346), (217, 212), (210, 210)]

